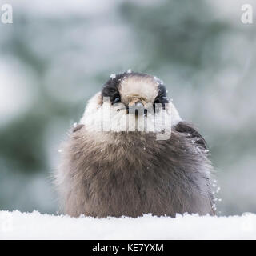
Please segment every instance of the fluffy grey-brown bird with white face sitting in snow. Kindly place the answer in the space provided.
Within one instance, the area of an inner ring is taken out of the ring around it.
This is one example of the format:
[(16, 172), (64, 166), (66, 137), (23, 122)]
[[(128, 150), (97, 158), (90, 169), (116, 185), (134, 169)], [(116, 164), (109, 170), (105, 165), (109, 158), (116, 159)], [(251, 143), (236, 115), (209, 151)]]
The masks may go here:
[(55, 184), (65, 214), (215, 215), (206, 140), (167, 94), (159, 78), (128, 70), (90, 98), (61, 146)]

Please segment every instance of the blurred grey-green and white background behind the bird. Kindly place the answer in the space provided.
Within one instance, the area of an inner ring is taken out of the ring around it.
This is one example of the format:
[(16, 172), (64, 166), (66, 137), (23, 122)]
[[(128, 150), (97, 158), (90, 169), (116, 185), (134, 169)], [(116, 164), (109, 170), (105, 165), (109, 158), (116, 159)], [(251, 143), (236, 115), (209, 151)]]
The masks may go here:
[[(256, 15), (246, 0), (0, 0), (0, 210), (56, 214), (58, 145), (112, 73), (161, 78), (210, 145), (218, 211), (256, 212)], [(2, 13), (1, 13), (2, 14)]]

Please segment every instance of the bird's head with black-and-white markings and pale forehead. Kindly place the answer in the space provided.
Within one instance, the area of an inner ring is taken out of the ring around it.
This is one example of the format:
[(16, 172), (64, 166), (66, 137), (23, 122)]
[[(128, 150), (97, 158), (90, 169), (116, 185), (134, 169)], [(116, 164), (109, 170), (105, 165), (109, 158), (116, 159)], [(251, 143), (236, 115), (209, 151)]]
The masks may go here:
[(149, 74), (127, 71), (110, 75), (102, 91), (90, 99), (81, 123), (96, 131), (105, 127), (114, 132), (161, 132), (162, 114), (172, 125), (181, 120), (163, 82)]

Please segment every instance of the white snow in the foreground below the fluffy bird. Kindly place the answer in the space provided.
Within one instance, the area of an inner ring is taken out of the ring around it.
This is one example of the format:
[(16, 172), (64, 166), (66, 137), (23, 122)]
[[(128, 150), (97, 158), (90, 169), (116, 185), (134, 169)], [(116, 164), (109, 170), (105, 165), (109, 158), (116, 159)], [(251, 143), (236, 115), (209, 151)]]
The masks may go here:
[(1, 239), (256, 239), (256, 214), (98, 219), (0, 211)]

